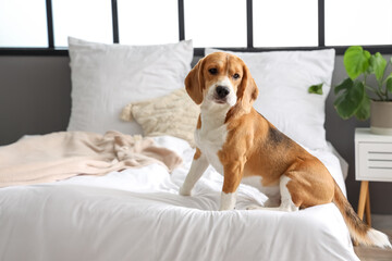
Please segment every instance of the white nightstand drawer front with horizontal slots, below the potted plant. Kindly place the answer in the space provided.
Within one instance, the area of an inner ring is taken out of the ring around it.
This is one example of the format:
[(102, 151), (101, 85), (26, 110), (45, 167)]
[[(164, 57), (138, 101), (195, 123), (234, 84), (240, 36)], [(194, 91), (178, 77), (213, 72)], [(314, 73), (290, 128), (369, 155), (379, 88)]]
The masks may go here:
[(392, 181), (392, 142), (358, 142), (359, 181)]

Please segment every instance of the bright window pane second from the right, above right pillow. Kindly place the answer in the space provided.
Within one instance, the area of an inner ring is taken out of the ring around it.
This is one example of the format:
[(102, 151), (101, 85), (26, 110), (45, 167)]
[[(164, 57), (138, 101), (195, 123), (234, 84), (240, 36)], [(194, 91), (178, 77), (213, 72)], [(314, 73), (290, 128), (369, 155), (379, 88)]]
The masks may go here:
[(318, 1), (254, 1), (255, 47), (318, 46)]

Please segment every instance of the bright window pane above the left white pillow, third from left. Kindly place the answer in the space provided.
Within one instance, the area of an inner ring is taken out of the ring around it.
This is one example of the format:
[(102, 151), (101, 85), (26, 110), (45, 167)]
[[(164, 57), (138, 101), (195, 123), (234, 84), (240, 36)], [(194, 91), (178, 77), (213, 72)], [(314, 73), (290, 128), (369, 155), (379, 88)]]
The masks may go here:
[(118, 7), (121, 44), (179, 41), (177, 0), (119, 0)]

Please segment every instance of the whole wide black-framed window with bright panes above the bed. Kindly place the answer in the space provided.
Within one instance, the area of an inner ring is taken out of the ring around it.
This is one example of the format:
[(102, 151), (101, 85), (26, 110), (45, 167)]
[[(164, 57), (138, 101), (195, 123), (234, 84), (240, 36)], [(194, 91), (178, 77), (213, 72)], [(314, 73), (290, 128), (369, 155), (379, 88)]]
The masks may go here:
[(68, 55), (68, 36), (234, 51), (392, 53), (392, 0), (0, 0), (0, 55)]

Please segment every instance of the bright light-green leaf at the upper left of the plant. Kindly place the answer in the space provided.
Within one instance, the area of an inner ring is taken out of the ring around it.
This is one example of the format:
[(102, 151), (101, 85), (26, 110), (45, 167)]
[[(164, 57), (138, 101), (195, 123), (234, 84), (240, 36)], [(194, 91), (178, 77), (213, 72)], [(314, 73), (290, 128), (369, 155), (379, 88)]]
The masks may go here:
[(343, 63), (347, 75), (356, 79), (369, 67), (370, 52), (359, 46), (352, 46), (344, 52)]

